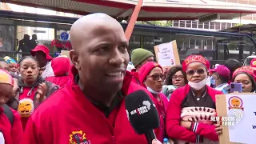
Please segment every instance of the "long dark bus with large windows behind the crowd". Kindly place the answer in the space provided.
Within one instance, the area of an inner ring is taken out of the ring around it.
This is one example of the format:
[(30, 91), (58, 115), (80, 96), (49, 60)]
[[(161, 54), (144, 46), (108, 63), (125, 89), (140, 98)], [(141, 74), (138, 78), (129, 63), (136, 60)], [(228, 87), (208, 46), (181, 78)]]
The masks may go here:
[[(29, 54), (30, 50), (17, 51), (18, 44), (25, 35), (30, 38), (37, 35), (38, 44), (47, 46), (53, 57), (60, 50), (72, 49), (70, 42), (63, 42), (60, 35), (62, 32), (69, 33), (71, 24), (78, 18), (5, 10), (0, 10), (0, 18), (0, 57), (8, 55), (20, 58), (22, 54)], [(121, 25), (126, 30), (127, 23)], [(177, 42), (181, 62), (191, 54), (201, 54), (211, 65), (222, 64), (228, 58), (243, 62), (256, 51), (254, 38), (246, 34), (135, 25), (129, 42), (129, 54), (136, 48), (144, 48), (154, 53), (154, 46), (173, 40)]]

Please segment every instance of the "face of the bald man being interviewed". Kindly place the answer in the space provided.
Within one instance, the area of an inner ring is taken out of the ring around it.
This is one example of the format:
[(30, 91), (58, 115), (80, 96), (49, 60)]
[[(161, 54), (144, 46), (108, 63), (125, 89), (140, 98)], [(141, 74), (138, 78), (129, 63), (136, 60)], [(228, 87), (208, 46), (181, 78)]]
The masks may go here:
[(74, 62), (82, 84), (103, 91), (121, 89), (129, 62), (122, 26), (98, 26), (87, 31), (83, 39), (78, 62)]

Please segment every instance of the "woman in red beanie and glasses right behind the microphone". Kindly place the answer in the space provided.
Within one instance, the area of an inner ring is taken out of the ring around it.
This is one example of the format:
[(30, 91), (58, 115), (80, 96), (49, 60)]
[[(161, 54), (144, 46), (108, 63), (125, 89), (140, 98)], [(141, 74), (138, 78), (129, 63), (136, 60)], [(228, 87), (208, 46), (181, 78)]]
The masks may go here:
[(162, 67), (155, 62), (147, 62), (144, 64), (138, 72), (139, 81), (153, 95), (154, 104), (158, 109), (160, 117), (160, 128), (158, 131), (158, 139), (163, 140), (165, 138), (165, 118), (168, 100), (164, 94), (161, 93), (163, 81), (166, 78), (166, 74), (163, 74)]

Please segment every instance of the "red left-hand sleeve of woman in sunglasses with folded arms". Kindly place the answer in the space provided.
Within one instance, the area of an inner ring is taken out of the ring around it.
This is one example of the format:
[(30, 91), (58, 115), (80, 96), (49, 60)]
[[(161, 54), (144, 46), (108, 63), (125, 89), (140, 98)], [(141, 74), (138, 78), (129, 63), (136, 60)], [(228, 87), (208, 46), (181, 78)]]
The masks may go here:
[(170, 138), (193, 143), (201, 142), (200, 135), (180, 126), (182, 94), (184, 94), (183, 91), (174, 90), (170, 97), (166, 112), (166, 133)]

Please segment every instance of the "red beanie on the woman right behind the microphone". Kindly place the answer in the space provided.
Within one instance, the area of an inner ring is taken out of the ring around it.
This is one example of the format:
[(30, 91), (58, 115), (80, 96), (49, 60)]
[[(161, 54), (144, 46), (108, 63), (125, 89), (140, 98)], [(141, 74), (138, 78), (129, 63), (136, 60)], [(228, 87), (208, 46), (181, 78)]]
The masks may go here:
[(138, 78), (139, 78), (139, 82), (141, 82), (142, 86), (146, 87), (143, 82), (145, 81), (146, 76), (148, 74), (150, 74), (150, 71), (153, 70), (155, 67), (160, 67), (162, 70), (162, 66), (160, 66), (156, 62), (147, 62), (146, 64), (142, 65), (142, 67), (139, 69), (139, 71), (138, 71), (139, 77)]

